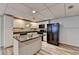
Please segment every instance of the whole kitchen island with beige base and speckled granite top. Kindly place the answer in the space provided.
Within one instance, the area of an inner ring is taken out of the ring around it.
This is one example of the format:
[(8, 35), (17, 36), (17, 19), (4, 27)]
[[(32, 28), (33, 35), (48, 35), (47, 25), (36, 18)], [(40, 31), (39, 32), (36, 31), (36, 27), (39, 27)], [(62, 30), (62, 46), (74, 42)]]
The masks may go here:
[(36, 31), (14, 34), (14, 54), (33, 55), (42, 47), (42, 35)]

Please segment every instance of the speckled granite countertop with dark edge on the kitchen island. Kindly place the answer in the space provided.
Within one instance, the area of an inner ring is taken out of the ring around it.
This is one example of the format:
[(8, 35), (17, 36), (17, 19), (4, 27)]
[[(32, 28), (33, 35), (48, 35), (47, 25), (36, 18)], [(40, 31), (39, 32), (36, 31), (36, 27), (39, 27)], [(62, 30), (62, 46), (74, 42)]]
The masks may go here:
[[(24, 32), (25, 33), (25, 32)], [(14, 38), (16, 40), (18, 40), (19, 42), (26, 42), (26, 41), (29, 41), (29, 40), (33, 40), (33, 39), (36, 39), (36, 38), (39, 38), (39, 37), (42, 37), (44, 35), (42, 34), (38, 34), (36, 31), (35, 32), (28, 32), (30, 33), (30, 37), (28, 34), (24, 34), (23, 32), (20, 33), (20, 34), (14, 34)], [(23, 35), (21, 35), (23, 34)], [(41, 38), (42, 39), (42, 38)]]

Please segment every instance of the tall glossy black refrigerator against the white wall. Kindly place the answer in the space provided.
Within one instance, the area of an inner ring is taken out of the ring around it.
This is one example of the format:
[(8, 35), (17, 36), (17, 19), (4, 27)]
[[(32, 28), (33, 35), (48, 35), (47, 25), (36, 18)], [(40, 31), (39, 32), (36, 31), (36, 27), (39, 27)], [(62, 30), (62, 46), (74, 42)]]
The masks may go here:
[(47, 43), (59, 45), (59, 23), (47, 24)]

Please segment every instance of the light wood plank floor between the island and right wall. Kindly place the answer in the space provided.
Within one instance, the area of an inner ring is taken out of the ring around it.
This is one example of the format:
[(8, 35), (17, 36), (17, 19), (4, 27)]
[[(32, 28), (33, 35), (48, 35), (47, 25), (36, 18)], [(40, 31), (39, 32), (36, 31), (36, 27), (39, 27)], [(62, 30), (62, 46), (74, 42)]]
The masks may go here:
[(55, 46), (43, 42), (42, 49), (36, 55), (79, 55), (79, 48), (67, 45)]

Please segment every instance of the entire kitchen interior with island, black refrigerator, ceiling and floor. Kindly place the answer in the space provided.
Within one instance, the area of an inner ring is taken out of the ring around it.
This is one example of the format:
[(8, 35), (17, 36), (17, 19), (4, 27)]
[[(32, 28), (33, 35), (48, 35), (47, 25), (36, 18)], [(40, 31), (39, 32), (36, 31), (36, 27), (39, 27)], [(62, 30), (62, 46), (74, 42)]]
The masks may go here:
[(0, 6), (2, 54), (79, 54), (78, 4), (6, 3)]

